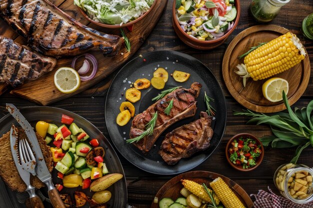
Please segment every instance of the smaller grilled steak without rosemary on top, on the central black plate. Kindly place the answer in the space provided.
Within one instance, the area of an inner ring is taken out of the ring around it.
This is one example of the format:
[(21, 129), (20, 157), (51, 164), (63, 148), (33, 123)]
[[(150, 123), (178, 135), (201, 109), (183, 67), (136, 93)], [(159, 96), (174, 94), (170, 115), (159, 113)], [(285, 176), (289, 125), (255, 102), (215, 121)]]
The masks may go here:
[(175, 165), (181, 158), (206, 150), (213, 136), (211, 116), (200, 113), (200, 119), (183, 125), (165, 135), (158, 152), (168, 165)]

